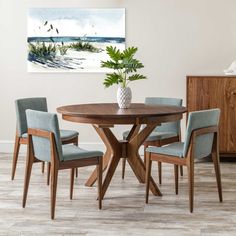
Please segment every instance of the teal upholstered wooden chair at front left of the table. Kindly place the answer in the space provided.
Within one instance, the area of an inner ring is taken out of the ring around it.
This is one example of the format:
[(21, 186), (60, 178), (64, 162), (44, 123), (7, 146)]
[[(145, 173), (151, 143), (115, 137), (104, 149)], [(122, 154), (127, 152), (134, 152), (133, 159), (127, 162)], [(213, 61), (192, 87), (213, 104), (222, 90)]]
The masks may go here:
[(28, 154), (24, 182), (23, 207), (26, 205), (32, 165), (43, 161), (51, 163), (51, 218), (55, 216), (58, 171), (71, 169), (70, 198), (73, 195), (74, 170), (77, 167), (97, 165), (99, 209), (102, 207), (102, 156), (100, 151), (87, 151), (76, 145), (62, 145), (56, 114), (27, 110)]

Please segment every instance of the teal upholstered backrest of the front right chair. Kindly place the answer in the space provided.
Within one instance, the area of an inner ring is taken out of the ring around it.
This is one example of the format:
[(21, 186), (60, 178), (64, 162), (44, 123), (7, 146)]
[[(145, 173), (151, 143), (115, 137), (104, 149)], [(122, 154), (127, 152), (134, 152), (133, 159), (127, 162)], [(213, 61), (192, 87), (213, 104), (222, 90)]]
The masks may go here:
[[(194, 130), (218, 126), (220, 119), (220, 109), (209, 109), (190, 112), (185, 135), (183, 156), (187, 156), (191, 134)], [(213, 133), (203, 134), (196, 137), (195, 157), (202, 158), (211, 154), (213, 144)]]

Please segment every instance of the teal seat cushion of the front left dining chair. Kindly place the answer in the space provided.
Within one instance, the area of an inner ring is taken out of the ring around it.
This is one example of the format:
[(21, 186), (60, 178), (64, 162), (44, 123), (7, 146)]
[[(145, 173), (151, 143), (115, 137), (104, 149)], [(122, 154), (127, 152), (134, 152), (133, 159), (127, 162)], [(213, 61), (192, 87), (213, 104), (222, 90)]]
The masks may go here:
[(67, 144), (62, 146), (62, 155), (64, 161), (86, 159), (90, 157), (102, 157), (103, 152), (88, 151), (75, 145)]

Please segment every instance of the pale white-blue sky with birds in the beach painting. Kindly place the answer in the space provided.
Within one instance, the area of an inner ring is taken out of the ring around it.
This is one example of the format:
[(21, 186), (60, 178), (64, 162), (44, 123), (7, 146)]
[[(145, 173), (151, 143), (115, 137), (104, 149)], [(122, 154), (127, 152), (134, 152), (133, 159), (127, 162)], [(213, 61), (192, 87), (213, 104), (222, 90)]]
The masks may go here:
[[(53, 30), (49, 30), (50, 25)], [(28, 37), (37, 36), (124, 38), (125, 9), (31, 8), (28, 12)]]

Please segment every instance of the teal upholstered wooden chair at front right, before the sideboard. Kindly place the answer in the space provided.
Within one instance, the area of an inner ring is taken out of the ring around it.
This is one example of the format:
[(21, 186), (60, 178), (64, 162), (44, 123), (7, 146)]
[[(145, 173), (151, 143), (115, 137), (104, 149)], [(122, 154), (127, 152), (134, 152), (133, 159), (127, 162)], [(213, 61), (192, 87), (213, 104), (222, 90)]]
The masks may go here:
[(146, 203), (148, 203), (149, 181), (152, 161), (174, 164), (175, 191), (178, 194), (178, 166), (187, 166), (189, 183), (189, 207), (193, 212), (194, 196), (194, 159), (211, 155), (217, 180), (220, 202), (222, 187), (219, 165), (219, 109), (190, 112), (185, 141), (168, 144), (164, 147), (148, 147), (146, 149)]

